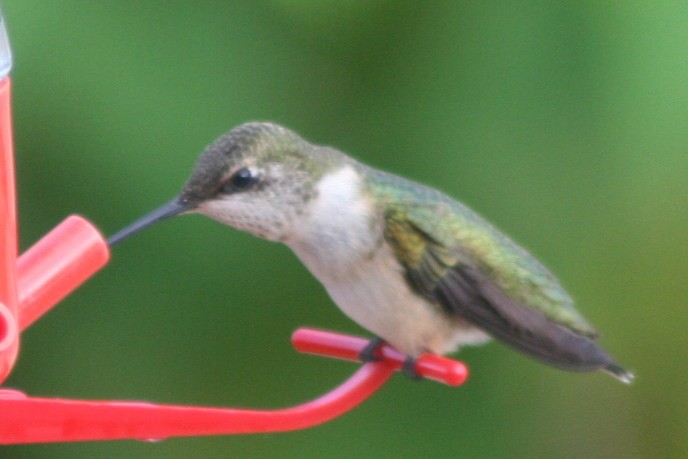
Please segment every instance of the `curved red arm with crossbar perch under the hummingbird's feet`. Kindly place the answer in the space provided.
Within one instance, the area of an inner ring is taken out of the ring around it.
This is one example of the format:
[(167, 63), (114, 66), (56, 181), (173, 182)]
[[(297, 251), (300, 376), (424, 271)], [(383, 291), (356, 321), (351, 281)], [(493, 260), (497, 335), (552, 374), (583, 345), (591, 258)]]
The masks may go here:
[[(297, 330), (292, 341), (301, 351), (357, 360), (363, 338), (321, 330)], [(31, 398), (0, 390), (0, 443), (46, 443), (94, 440), (161, 440), (178, 436), (285, 432), (334, 419), (356, 407), (397, 371), (403, 355), (383, 346), (379, 362), (363, 365), (329, 393), (280, 410), (244, 410), (146, 402)], [(465, 366), (451, 359), (422, 356), (416, 370), (450, 385), (465, 381)]]

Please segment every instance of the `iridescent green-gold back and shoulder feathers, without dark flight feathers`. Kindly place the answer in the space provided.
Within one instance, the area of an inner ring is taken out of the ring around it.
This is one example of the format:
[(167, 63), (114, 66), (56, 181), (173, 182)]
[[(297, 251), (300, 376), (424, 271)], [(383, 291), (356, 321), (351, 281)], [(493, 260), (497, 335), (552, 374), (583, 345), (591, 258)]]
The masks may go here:
[(379, 174), (385, 238), (421, 293), (431, 294), (453, 269), (470, 268), (506, 298), (576, 333), (598, 335), (557, 279), (475, 212), (433, 189)]

